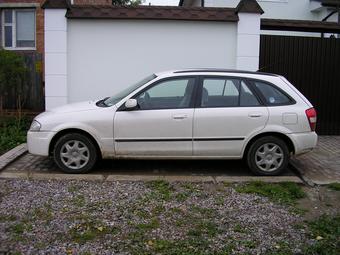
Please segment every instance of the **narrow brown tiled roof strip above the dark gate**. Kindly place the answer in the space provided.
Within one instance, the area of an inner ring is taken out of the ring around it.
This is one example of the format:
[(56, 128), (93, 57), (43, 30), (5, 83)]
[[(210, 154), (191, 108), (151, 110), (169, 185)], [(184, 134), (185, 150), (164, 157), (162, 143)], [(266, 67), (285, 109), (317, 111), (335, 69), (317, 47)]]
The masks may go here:
[(261, 19), (261, 29), (301, 31), (301, 32), (324, 32), (340, 33), (340, 25), (336, 22), (289, 20), (289, 19)]

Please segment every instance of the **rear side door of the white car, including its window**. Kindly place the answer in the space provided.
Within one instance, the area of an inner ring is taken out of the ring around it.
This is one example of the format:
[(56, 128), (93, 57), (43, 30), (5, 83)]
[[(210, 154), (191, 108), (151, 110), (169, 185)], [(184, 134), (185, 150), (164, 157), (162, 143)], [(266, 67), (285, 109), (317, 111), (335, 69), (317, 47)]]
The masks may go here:
[(242, 79), (200, 78), (194, 113), (194, 156), (238, 158), (244, 141), (264, 128), (268, 110)]

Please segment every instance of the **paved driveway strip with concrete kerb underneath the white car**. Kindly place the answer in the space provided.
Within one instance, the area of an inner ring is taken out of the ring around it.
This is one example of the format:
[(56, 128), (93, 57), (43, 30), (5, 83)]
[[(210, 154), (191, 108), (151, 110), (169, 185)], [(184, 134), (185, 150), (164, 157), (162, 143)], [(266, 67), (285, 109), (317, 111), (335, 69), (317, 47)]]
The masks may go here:
[(263, 180), (301, 182), (291, 169), (283, 176), (257, 177), (243, 161), (226, 160), (102, 160), (89, 174), (63, 174), (51, 158), (25, 153), (0, 172), (0, 177), (77, 180), (155, 180), (238, 182)]

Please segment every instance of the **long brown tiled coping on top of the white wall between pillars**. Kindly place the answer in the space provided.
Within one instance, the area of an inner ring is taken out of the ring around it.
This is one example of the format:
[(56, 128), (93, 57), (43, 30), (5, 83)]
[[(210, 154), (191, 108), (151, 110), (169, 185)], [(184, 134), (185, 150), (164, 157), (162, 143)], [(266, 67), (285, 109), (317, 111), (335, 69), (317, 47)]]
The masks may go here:
[(76, 6), (66, 13), (72, 19), (163, 19), (197, 21), (238, 21), (234, 8), (200, 8), (177, 6)]

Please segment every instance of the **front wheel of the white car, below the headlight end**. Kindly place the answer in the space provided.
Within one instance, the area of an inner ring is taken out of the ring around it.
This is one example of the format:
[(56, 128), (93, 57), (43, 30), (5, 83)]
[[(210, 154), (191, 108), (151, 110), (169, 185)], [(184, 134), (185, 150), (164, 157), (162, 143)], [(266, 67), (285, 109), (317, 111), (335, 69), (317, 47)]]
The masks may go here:
[(69, 174), (89, 172), (98, 159), (97, 149), (92, 140), (77, 133), (60, 137), (53, 152), (58, 167)]

